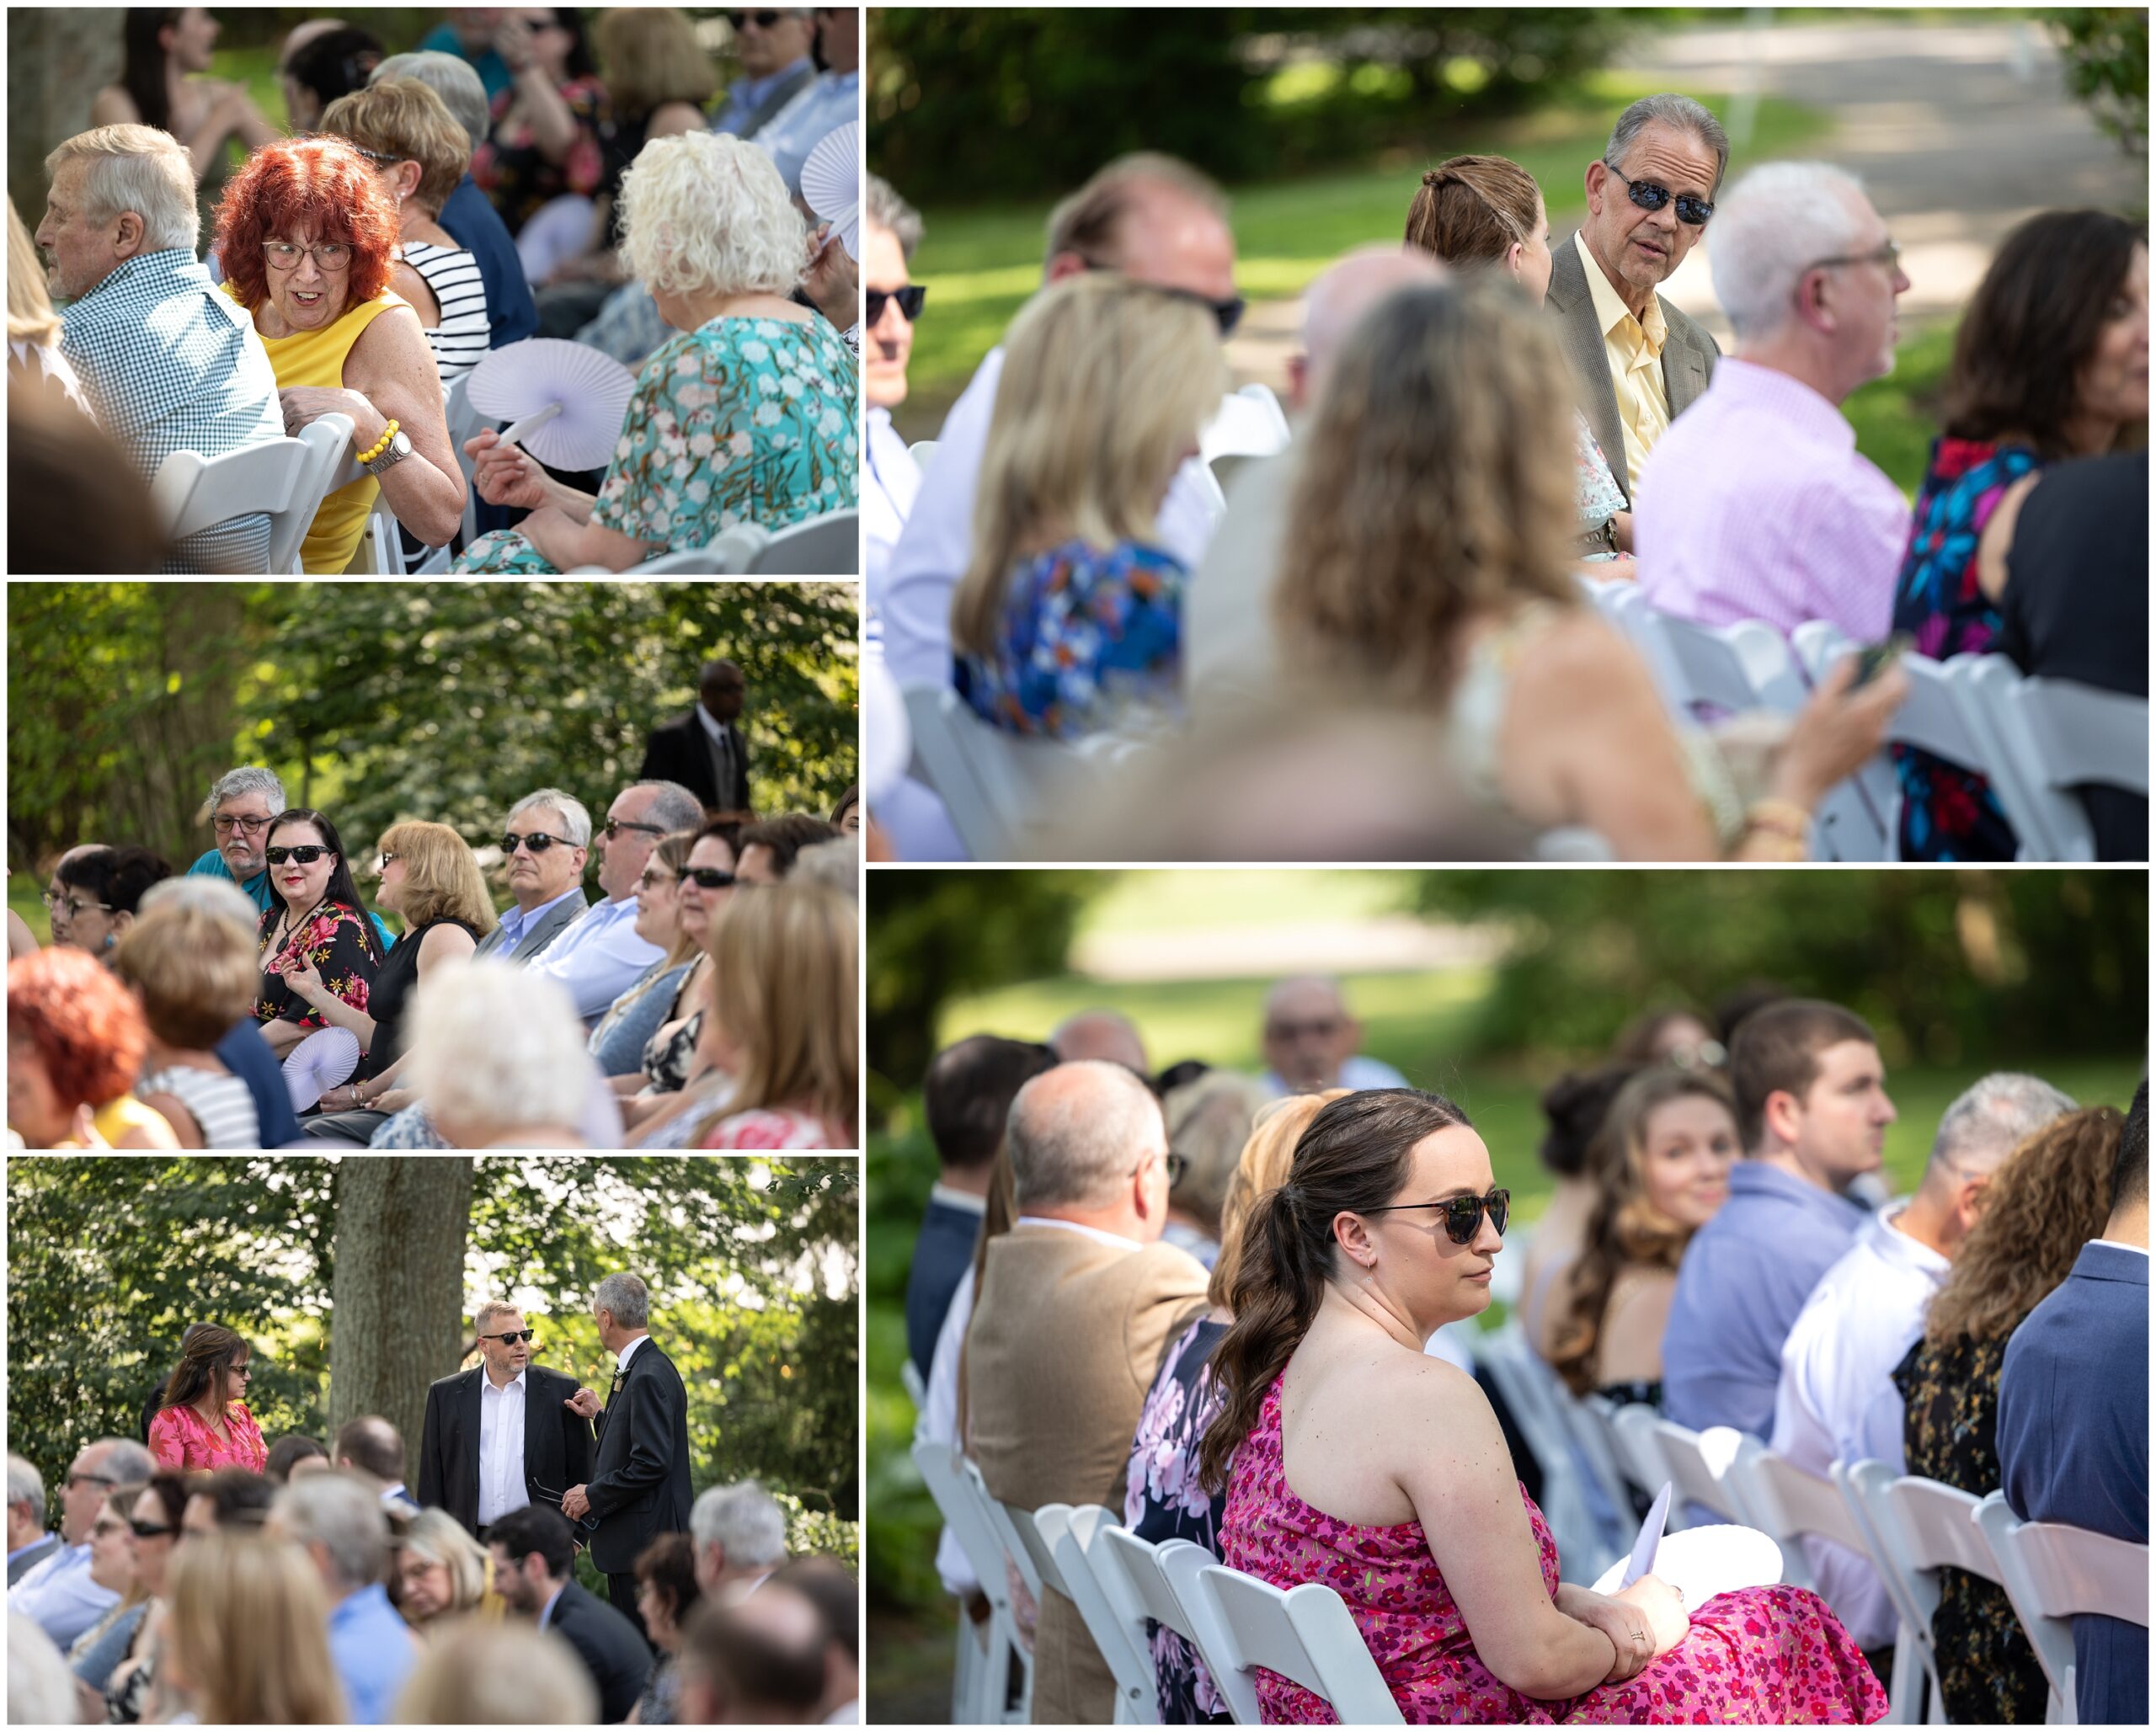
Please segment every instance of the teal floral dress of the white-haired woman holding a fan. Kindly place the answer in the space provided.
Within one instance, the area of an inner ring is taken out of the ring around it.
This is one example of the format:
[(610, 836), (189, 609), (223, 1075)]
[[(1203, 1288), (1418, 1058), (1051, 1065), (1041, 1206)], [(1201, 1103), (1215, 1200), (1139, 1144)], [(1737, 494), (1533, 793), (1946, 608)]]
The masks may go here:
[[(714, 319), (645, 362), (591, 521), (647, 558), (707, 547), (735, 523), (783, 530), (860, 504), (860, 362), (828, 319)], [(543, 575), (515, 530), (457, 571)]]

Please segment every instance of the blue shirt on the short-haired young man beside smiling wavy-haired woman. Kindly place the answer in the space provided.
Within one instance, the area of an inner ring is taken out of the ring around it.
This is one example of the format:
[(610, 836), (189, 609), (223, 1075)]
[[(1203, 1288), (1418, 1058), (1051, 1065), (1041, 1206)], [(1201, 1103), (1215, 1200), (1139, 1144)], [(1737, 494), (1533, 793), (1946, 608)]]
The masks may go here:
[(1677, 1267), (1662, 1331), (1664, 1413), (1692, 1430), (1772, 1437), (1781, 1346), (1865, 1219), (1863, 1204), (1764, 1161), (1738, 1161), (1729, 1200)]

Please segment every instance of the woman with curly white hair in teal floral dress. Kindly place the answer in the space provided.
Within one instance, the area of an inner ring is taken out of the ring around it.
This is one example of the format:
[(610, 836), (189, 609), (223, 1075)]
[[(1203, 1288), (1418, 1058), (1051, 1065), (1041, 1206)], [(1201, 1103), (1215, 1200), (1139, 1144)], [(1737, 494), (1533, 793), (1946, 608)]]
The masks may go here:
[(791, 299), (808, 231), (770, 157), (724, 134), (653, 138), (621, 179), (621, 224), (623, 263), (681, 336), (642, 364), (597, 498), (492, 431), (466, 446), (479, 495), (530, 517), (457, 571), (627, 571), (733, 523), (780, 530), (860, 500), (860, 364)]

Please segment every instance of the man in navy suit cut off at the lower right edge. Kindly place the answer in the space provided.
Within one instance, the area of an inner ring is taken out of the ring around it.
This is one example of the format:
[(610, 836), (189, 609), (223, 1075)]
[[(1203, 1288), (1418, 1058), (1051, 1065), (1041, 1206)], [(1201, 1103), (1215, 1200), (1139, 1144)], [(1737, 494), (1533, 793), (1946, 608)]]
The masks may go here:
[[(2074, 1273), (2007, 1342), (1999, 1476), (2022, 1521), (2150, 1538), (2150, 1086), (2141, 1081), (2111, 1181), (2111, 1219)], [(2150, 1633), (2074, 1618), (2083, 1726), (2150, 1723)]]

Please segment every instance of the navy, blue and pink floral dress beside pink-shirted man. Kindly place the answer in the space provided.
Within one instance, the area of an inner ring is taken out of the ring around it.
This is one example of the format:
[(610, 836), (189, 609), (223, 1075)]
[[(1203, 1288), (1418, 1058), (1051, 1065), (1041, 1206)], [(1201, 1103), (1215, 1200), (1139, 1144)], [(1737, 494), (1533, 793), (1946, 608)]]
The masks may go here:
[[(1917, 489), (1917, 526), (1893, 592), (1893, 629), (1934, 661), (1990, 655), (1999, 610), (1977, 588), (1977, 539), (2001, 495), (2040, 465), (2027, 446), (1934, 439)], [(2012, 860), (2016, 840), (1981, 776), (1930, 752), (1893, 748), (1902, 778), (1902, 860)]]

